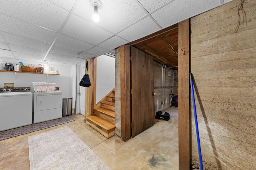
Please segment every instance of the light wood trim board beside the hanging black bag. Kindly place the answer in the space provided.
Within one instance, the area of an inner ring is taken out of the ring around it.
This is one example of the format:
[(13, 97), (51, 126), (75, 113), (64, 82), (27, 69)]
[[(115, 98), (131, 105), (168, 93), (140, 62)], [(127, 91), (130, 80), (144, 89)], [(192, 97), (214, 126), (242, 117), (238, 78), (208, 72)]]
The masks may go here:
[(89, 88), (86, 88), (85, 90), (85, 114), (84, 116), (87, 115), (92, 115), (93, 114), (93, 109), (96, 106), (96, 72), (97, 72), (97, 59), (96, 58), (91, 58), (88, 59), (88, 74), (90, 77), (90, 82), (91, 86)]

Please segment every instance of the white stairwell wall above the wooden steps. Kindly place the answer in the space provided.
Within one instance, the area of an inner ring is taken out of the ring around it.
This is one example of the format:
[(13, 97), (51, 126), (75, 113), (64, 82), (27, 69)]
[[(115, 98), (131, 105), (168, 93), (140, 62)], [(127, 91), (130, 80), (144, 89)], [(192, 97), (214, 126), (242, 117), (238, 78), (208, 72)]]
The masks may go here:
[(115, 87), (115, 58), (97, 57), (96, 103)]

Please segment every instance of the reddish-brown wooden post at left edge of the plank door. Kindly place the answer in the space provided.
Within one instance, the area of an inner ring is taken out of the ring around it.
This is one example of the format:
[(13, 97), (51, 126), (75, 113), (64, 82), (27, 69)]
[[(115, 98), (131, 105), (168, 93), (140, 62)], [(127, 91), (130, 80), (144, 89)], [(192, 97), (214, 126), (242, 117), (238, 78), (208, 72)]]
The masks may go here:
[(121, 139), (131, 138), (130, 46), (120, 46)]

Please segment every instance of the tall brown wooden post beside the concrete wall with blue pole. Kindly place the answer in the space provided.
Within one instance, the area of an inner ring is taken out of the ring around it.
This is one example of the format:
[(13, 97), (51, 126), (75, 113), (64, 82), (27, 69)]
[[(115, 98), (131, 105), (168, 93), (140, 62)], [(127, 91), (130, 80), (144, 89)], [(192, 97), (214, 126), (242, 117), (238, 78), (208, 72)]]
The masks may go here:
[(178, 23), (178, 129), (180, 170), (190, 169), (189, 26), (189, 19)]

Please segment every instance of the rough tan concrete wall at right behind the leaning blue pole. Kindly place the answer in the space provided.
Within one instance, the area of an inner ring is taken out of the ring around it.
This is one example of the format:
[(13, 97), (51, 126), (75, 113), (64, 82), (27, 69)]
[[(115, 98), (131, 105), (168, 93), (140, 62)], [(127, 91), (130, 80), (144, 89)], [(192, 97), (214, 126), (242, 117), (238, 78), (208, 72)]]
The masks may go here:
[[(247, 24), (240, 12), (235, 33), (239, 3), (233, 0), (190, 19), (190, 68), (204, 169), (256, 167), (256, 1), (245, 0)], [(191, 119), (191, 162), (197, 167), (193, 106)]]

